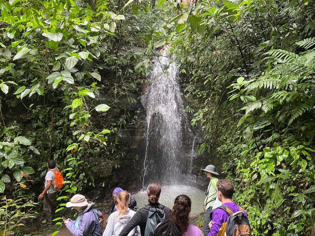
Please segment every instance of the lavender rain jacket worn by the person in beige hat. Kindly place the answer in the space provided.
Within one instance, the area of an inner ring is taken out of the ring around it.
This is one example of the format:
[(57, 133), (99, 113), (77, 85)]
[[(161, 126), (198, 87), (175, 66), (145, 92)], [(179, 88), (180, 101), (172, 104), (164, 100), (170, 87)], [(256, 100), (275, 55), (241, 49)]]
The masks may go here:
[(78, 213), (77, 217), (80, 216), (79, 228), (74, 225), (76, 221), (70, 220), (67, 223), (67, 228), (74, 236), (92, 236), (92, 232), (95, 228), (95, 215), (93, 211), (89, 211), (92, 206), (93, 204), (88, 204), (88, 207), (85, 208), (84, 211)]

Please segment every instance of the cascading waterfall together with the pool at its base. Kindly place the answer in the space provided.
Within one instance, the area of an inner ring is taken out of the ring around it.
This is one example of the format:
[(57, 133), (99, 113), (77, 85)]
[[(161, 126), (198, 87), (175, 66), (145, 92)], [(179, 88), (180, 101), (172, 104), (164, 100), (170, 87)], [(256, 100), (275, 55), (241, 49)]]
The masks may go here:
[(152, 84), (141, 98), (147, 121), (145, 148), (139, 153), (144, 155), (142, 190), (133, 196), (138, 206), (143, 207), (148, 203), (145, 187), (158, 182), (162, 186), (159, 202), (171, 207), (176, 196), (186, 194), (192, 199), (191, 215), (198, 216), (205, 195), (189, 186), (195, 186), (194, 183), (188, 183), (192, 181), (192, 161), (196, 156), (195, 137), (192, 141), (177, 67), (169, 57), (162, 56), (155, 61), (150, 78)]

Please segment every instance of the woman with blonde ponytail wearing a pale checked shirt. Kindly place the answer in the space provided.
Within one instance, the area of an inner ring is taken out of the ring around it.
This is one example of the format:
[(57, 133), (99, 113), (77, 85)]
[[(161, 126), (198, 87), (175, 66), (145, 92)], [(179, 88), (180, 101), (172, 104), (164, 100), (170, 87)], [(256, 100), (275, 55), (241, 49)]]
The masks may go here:
[[(117, 197), (117, 211), (108, 217), (103, 236), (118, 236), (127, 222), (135, 215), (136, 212), (128, 208), (128, 202), (129, 193), (125, 190), (119, 192)], [(140, 236), (139, 226), (134, 227), (128, 235)]]

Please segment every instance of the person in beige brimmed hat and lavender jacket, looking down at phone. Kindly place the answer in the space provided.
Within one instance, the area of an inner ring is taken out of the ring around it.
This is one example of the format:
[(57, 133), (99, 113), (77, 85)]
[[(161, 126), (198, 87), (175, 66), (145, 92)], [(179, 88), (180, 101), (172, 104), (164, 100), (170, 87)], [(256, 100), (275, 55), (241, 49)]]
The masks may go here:
[(63, 221), (74, 236), (92, 236), (92, 233), (93, 235), (98, 235), (95, 234), (97, 232), (93, 232), (95, 229), (95, 215), (93, 211), (90, 211), (93, 203), (89, 204), (83, 195), (76, 194), (70, 202), (66, 203), (66, 207), (73, 207), (73, 209), (79, 212), (75, 221), (71, 219)]

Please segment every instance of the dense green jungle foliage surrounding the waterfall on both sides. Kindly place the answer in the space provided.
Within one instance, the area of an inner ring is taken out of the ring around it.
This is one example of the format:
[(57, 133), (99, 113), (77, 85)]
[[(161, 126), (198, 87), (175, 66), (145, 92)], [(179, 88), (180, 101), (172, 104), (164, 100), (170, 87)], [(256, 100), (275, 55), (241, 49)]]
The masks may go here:
[(198, 153), (223, 160), (253, 234), (310, 235), (314, 4), (0, 0), (0, 234), (26, 235), (48, 159), (66, 179), (56, 212), (110, 186), (102, 176), (120, 168), (121, 134), (138, 118), (132, 94), (171, 44)]

